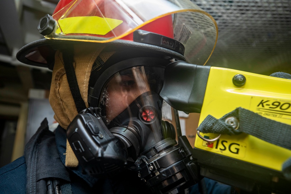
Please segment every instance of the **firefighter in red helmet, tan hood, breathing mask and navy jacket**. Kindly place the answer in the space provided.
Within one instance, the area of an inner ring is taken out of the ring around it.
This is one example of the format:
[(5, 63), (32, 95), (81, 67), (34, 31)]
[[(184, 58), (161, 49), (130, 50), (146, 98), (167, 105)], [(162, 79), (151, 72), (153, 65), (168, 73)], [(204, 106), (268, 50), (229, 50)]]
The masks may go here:
[[(49, 102), (59, 126), (52, 133), (41, 123), (24, 156), (1, 169), (1, 191), (157, 191), (144, 183), (152, 175), (132, 169), (178, 150), (177, 127), (163, 120), (164, 69), (177, 60), (204, 65), (217, 40), (214, 19), (187, 0), (61, 0), (38, 30), (45, 39), (17, 59), (52, 70)], [(179, 164), (189, 160), (181, 157)], [(206, 182), (212, 193), (230, 192)], [(174, 183), (164, 189), (182, 191)], [(199, 192), (197, 185), (190, 190)]]

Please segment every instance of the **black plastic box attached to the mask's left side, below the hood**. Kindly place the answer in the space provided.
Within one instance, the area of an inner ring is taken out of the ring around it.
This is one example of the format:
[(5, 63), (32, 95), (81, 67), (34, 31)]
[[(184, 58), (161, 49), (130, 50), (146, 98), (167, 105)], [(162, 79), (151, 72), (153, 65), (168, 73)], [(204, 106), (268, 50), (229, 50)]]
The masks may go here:
[(123, 144), (98, 116), (78, 114), (68, 126), (67, 138), (79, 163), (91, 176), (111, 176), (127, 164)]

